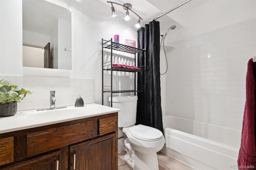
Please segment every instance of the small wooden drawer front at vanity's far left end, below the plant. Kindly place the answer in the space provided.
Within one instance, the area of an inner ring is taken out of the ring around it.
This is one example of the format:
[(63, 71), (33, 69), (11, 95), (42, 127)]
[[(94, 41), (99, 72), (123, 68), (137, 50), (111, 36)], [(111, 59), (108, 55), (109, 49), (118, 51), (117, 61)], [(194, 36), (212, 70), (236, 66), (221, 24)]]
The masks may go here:
[(0, 165), (8, 164), (14, 160), (13, 136), (0, 139)]

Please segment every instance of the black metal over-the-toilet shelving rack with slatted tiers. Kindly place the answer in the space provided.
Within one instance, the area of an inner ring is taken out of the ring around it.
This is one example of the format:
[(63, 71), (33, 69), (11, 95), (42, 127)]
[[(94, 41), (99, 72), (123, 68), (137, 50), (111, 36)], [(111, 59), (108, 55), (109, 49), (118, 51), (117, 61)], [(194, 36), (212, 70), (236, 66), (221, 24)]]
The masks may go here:
[[(104, 49), (110, 49), (110, 61), (106, 61), (104, 62)], [(124, 45), (124, 44), (120, 44), (120, 43), (115, 43), (112, 41), (112, 38), (110, 40), (104, 40), (102, 38), (102, 105), (104, 105), (104, 93), (110, 93), (111, 94), (111, 101), (110, 101), (110, 107), (112, 107), (112, 94), (113, 93), (127, 93), (127, 92), (134, 92), (134, 95), (136, 95), (136, 92), (141, 92), (141, 91), (145, 91), (146, 85), (143, 85), (141, 87), (136, 86), (136, 73), (137, 72), (141, 72), (141, 71), (145, 71), (146, 67), (142, 66), (139, 67), (140, 70), (136, 70), (136, 69), (127, 69), (127, 68), (116, 68), (116, 67), (112, 67), (113, 64), (113, 50), (116, 51), (122, 51), (125, 53), (131, 53), (134, 54), (134, 63), (136, 66), (136, 54), (139, 52), (144, 52), (144, 49), (138, 49), (135, 47), (130, 47), (128, 45)], [(108, 85), (104, 85), (104, 70), (108, 70), (111, 72), (110, 76), (111, 76), (111, 83), (110, 86)], [(124, 71), (124, 72), (132, 72), (134, 73), (134, 89), (133, 90), (118, 90), (118, 91), (113, 91), (112, 87), (113, 87), (113, 71)], [(146, 79), (146, 77), (144, 76), (144, 78)], [(146, 81), (145, 81), (146, 82)]]

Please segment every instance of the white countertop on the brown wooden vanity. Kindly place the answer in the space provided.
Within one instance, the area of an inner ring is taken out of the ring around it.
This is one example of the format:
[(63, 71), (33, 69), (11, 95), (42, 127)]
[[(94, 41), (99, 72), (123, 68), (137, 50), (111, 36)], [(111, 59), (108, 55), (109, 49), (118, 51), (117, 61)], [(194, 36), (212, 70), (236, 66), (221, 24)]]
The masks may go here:
[(120, 109), (98, 105), (96, 103), (86, 104), (84, 107), (68, 106), (64, 109), (53, 109), (47, 111), (18, 111), (14, 116), (0, 117), (0, 134), (106, 115), (118, 111), (120, 111)]

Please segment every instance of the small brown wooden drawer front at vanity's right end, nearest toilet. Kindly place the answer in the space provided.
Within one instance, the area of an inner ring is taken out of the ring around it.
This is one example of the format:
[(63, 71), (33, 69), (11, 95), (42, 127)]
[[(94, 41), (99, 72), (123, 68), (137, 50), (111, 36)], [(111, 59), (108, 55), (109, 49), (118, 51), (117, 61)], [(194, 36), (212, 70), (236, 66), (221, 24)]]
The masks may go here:
[(117, 129), (117, 117), (111, 116), (99, 119), (99, 135), (115, 132)]

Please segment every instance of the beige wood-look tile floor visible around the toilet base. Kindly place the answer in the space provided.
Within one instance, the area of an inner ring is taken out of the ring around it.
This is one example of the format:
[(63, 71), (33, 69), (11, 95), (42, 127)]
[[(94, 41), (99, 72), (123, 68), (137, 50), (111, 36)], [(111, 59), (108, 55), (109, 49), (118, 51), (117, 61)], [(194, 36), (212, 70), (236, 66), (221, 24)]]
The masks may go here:
[[(124, 151), (119, 152), (118, 154), (118, 170), (132, 170), (125, 162), (124, 162)], [(158, 158), (158, 166), (159, 170), (196, 170), (195, 168), (180, 162), (179, 160), (164, 154), (162, 152), (157, 153)]]

